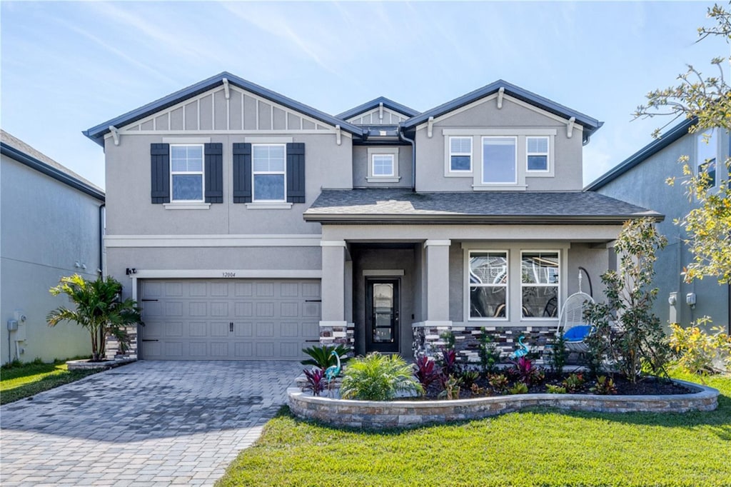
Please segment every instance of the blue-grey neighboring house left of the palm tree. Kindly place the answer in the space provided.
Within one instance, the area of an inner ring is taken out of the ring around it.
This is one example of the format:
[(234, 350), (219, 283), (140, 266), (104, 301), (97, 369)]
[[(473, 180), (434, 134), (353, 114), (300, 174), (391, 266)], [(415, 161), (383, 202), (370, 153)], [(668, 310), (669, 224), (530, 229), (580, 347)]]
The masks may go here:
[(68, 304), (48, 290), (61, 276), (99, 276), (104, 192), (5, 131), (0, 161), (1, 361), (89, 355), (86, 330), (46, 325)]

